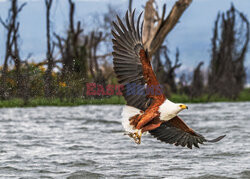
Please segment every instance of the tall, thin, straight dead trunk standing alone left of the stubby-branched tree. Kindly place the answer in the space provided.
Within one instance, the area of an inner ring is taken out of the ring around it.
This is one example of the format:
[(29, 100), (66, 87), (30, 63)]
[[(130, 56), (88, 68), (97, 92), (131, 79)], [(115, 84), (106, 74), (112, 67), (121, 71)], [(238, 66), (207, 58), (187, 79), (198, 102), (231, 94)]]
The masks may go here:
[(50, 10), (53, 0), (45, 0), (46, 5), (46, 30), (47, 30), (47, 53), (46, 58), (48, 61), (47, 70), (45, 72), (45, 96), (52, 96), (52, 70), (53, 70), (53, 49), (51, 45), (51, 36), (50, 36)]

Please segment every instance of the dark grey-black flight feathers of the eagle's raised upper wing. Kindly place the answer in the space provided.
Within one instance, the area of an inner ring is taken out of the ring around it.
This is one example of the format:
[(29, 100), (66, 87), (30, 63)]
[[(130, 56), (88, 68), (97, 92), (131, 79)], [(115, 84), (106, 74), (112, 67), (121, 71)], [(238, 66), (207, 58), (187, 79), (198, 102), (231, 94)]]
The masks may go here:
[[(114, 71), (118, 82), (125, 85), (122, 90), (123, 96), (128, 105), (145, 110), (152, 100), (146, 95), (146, 88), (141, 87), (147, 85), (139, 54), (141, 50), (144, 50), (140, 34), (141, 17), (142, 13), (137, 20), (135, 19), (135, 10), (130, 13), (127, 11), (124, 21), (117, 16), (117, 21), (113, 22), (114, 28), (111, 33), (114, 37), (112, 39)], [(136, 94), (130, 93), (133, 92), (132, 89), (126, 87), (127, 84), (132, 83), (137, 85)]]

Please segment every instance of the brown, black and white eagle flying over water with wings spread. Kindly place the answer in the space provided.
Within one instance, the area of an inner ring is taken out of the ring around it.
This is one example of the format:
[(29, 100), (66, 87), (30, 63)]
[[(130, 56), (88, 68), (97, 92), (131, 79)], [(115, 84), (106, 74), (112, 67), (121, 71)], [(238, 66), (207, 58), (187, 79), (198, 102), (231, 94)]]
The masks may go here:
[[(113, 63), (118, 82), (123, 85), (127, 102), (122, 112), (123, 127), (135, 143), (149, 132), (155, 138), (169, 144), (199, 148), (199, 143), (217, 142), (225, 135), (207, 140), (187, 126), (177, 114), (188, 109), (185, 104), (176, 104), (162, 93), (150, 63), (150, 57), (142, 43), (142, 27), (139, 15), (136, 27), (134, 14), (125, 15), (125, 23), (117, 16), (113, 22)], [(125, 25), (126, 24), (126, 25)]]

